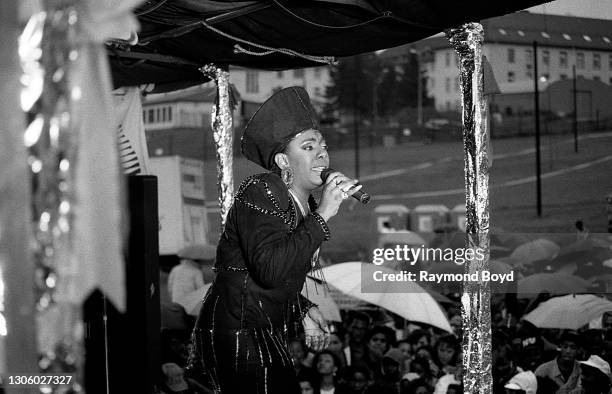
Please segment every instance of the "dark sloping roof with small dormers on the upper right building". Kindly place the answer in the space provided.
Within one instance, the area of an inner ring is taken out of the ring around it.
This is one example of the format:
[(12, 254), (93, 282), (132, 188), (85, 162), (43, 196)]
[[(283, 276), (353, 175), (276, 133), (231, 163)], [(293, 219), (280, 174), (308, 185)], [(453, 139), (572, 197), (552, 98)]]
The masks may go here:
[[(605, 19), (533, 14), (520, 11), (481, 21), (485, 43), (568, 47), (612, 51), (612, 22)], [(401, 59), (411, 48), (419, 51), (450, 48), (443, 35), (436, 35), (413, 44), (379, 51), (383, 59)]]

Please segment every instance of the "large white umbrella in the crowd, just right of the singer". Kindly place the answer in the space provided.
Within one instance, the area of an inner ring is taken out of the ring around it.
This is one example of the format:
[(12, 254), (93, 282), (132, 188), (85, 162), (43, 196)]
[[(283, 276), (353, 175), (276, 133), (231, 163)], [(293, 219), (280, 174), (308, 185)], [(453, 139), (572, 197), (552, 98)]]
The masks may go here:
[[(376, 272), (379, 273), (375, 276)], [(407, 320), (452, 332), (440, 305), (418, 284), (375, 280), (382, 274), (397, 273), (399, 271), (362, 262), (333, 264), (323, 268), (327, 283), (345, 294), (387, 309)]]

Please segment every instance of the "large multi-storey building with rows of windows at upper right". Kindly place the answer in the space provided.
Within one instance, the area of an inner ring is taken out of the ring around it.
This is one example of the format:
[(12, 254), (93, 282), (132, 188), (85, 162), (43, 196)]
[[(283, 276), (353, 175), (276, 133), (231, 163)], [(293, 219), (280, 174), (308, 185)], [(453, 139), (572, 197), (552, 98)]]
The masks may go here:
[[(497, 112), (512, 115), (532, 111), (534, 91), (533, 42), (538, 44), (538, 78), (543, 92), (552, 83), (580, 78), (612, 84), (612, 22), (570, 16), (532, 14), (521, 11), (482, 21), (483, 54), (493, 68), (501, 95), (495, 97)], [(426, 88), (436, 110), (459, 111), (458, 58), (448, 40), (434, 36), (410, 46), (380, 54), (388, 61), (405, 61), (410, 51), (420, 54), (427, 75)], [(554, 110), (554, 108), (551, 108)]]

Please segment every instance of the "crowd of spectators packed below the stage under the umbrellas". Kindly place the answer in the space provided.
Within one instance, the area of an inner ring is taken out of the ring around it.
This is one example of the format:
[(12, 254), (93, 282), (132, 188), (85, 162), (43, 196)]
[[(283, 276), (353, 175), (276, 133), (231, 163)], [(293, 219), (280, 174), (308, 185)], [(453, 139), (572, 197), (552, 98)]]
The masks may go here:
[[(302, 394), (463, 393), (458, 303), (446, 305), (446, 311), (455, 323), (453, 333), (412, 324), (396, 328), (400, 319), (386, 313), (352, 311), (343, 323), (332, 325), (330, 344), (320, 352), (307, 347), (301, 336), (291, 339), (288, 347)], [(517, 321), (502, 299), (494, 305), (492, 323), (493, 393), (610, 393), (612, 315), (604, 315), (601, 329), (541, 330)], [(165, 392), (212, 393), (205, 378), (183, 378), (188, 333), (168, 334), (164, 372), (180, 372), (177, 387), (183, 390)]]

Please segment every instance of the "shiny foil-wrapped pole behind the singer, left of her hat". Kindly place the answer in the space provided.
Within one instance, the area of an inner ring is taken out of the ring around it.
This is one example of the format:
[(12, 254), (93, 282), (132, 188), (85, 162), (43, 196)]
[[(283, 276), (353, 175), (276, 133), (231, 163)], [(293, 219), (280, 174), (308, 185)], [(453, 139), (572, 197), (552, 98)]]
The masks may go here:
[(219, 188), (219, 206), (221, 207), (221, 227), (224, 227), (234, 196), (232, 164), (234, 146), (233, 102), (229, 71), (214, 64), (208, 64), (202, 67), (200, 71), (217, 84), (217, 99), (211, 111), (211, 123), (217, 152), (217, 186)]

